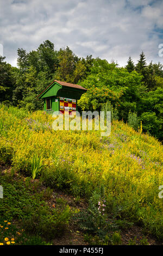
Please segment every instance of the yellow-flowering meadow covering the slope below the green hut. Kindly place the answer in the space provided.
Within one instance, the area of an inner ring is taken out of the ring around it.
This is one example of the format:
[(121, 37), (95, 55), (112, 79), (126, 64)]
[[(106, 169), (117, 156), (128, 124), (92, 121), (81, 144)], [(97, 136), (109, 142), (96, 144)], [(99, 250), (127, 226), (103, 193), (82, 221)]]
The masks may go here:
[[(163, 199), (158, 196), (163, 185), (162, 144), (123, 121), (112, 121), (110, 136), (101, 137), (100, 131), (54, 131), (53, 120), (43, 111), (1, 106), (0, 163), (11, 167), (10, 179), (33, 177), (49, 190), (57, 188), (79, 201), (84, 198), (88, 215), (98, 226), (92, 223), (91, 229), (85, 224), (83, 230), (102, 237), (101, 227), (105, 244), (113, 219), (121, 226), (142, 227), (145, 234), (162, 241)], [(4, 220), (2, 201), (0, 208)], [(78, 221), (84, 223), (84, 216), (86, 212)], [(21, 218), (10, 213), (10, 221), (12, 217)]]

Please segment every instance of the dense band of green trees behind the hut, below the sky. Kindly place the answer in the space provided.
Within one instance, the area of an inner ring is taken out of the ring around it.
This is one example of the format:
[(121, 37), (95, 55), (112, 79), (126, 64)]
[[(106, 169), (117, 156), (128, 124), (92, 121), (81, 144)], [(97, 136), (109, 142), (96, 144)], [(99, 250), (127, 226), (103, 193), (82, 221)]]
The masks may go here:
[(125, 68), (92, 56), (79, 58), (69, 47), (57, 51), (49, 40), (28, 53), (18, 48), (17, 54), (18, 68), (0, 58), (0, 102), (35, 111), (43, 108), (37, 95), (54, 79), (79, 83), (88, 89), (80, 110), (99, 111), (109, 102), (119, 120), (127, 122), (135, 113), (143, 131), (162, 140), (162, 64), (147, 65), (143, 52), (136, 65), (129, 57)]

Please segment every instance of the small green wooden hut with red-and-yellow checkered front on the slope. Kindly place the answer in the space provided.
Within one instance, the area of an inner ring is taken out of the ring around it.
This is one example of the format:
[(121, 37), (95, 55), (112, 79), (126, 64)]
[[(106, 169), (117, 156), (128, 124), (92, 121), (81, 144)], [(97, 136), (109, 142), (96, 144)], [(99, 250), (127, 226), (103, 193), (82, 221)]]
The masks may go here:
[(78, 84), (54, 80), (37, 98), (44, 100), (44, 110), (47, 112), (61, 111), (70, 114), (78, 109), (77, 100), (86, 91)]

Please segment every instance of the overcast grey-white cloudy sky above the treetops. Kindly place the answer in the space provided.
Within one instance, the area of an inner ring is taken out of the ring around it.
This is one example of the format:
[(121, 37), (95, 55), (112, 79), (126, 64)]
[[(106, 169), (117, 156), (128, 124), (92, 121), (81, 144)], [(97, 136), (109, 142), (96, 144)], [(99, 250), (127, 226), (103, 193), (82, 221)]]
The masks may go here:
[(55, 50), (68, 46), (120, 66), (141, 51), (148, 63), (162, 63), (162, 14), (162, 0), (0, 0), (0, 44), (14, 66), (17, 48), (36, 50), (47, 39)]

